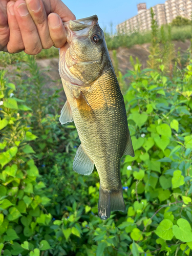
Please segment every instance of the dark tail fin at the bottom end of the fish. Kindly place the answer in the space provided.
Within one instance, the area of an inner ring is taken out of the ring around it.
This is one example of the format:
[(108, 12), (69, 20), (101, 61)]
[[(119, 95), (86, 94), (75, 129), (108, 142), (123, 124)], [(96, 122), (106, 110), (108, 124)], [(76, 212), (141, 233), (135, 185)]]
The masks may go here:
[(123, 200), (122, 188), (119, 191), (108, 193), (101, 186), (99, 189), (98, 215), (101, 220), (110, 218), (111, 211), (124, 211), (125, 204)]

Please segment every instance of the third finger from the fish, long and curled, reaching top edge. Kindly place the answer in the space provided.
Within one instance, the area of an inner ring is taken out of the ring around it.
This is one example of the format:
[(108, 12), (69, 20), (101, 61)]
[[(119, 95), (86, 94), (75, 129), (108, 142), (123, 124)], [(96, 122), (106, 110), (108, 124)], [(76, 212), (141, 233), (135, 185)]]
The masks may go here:
[(24, 52), (31, 55), (38, 54), (42, 50), (41, 41), (25, 1), (16, 1), (14, 11), (20, 32), (22, 33), (25, 46)]

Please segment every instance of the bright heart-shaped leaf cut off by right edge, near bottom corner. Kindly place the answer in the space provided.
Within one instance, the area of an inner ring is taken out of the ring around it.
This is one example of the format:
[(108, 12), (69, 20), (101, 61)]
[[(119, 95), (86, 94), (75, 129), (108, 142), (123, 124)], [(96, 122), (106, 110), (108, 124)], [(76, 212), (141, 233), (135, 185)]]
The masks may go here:
[(192, 242), (191, 226), (188, 221), (179, 219), (177, 220), (177, 225), (173, 226), (174, 236), (182, 242)]

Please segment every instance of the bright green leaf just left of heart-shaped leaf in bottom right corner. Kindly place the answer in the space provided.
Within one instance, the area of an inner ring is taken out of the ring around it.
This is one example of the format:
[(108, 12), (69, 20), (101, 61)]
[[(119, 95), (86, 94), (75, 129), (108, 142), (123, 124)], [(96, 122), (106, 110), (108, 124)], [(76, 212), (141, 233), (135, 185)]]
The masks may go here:
[(173, 223), (170, 220), (163, 220), (155, 230), (155, 233), (164, 240), (172, 240), (174, 236), (172, 227)]

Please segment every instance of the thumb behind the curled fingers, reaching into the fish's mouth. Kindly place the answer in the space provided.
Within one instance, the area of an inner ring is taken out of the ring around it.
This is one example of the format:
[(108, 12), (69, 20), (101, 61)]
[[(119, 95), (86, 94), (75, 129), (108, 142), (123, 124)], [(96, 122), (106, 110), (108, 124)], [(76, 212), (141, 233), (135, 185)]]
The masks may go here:
[(75, 15), (70, 11), (70, 9), (61, 1), (61, 0), (50, 0), (51, 3), (51, 9), (49, 9), (49, 6), (47, 4), (47, 0), (42, 0), (44, 2), (44, 5), (46, 7), (47, 13), (55, 12), (57, 13), (61, 19), (62, 22), (68, 22), (70, 19), (76, 19)]

